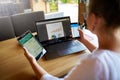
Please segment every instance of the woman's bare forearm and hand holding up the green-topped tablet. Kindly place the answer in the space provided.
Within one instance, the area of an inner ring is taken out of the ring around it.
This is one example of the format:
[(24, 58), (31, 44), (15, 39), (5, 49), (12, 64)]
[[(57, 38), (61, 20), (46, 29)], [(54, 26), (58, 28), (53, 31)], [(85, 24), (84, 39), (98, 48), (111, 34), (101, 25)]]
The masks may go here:
[(28, 52), (28, 50), (26, 48), (24, 49), (25, 49), (24, 55), (31, 64), (35, 74), (40, 79), (44, 74), (47, 74), (47, 72), (37, 63), (36, 59)]

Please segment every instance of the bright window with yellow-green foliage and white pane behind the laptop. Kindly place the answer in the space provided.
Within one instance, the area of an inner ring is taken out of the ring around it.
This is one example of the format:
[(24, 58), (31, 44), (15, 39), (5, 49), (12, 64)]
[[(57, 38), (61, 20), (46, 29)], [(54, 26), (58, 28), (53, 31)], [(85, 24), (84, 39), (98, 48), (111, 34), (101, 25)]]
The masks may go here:
[(48, 0), (46, 3), (46, 18), (70, 16), (71, 22), (78, 22), (78, 0)]

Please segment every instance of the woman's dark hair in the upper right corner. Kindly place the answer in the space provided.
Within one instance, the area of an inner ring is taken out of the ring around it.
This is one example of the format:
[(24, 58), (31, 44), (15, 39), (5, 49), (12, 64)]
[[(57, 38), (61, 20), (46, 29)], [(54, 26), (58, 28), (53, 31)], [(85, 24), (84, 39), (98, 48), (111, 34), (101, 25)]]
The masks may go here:
[(120, 26), (120, 0), (90, 0), (90, 13), (102, 17), (106, 26)]

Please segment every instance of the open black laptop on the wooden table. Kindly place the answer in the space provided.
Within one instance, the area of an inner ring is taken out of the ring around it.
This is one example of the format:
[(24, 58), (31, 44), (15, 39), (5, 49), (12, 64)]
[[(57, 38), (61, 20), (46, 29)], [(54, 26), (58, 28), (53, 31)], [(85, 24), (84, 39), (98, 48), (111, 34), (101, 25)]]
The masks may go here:
[(68, 54), (78, 53), (85, 47), (73, 39), (70, 17), (60, 17), (37, 21), (37, 37), (47, 53), (47, 60), (55, 59)]

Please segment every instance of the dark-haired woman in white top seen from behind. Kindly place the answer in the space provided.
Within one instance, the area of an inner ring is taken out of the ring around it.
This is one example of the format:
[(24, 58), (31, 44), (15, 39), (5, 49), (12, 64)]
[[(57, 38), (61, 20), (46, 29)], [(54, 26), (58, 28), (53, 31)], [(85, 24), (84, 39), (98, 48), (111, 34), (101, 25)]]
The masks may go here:
[(120, 80), (120, 0), (90, 0), (88, 29), (98, 36), (99, 47), (80, 41), (92, 52), (64, 78), (48, 74), (28, 52), (25, 56), (40, 80)]

